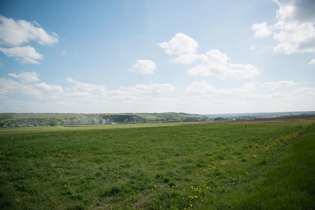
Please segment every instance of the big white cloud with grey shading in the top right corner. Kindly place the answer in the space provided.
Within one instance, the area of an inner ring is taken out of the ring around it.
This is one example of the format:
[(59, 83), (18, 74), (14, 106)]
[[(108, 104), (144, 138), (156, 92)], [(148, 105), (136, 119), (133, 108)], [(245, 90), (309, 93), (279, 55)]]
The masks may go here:
[[(277, 23), (254, 24), (256, 38), (273, 34), (275, 53), (291, 54), (295, 52), (315, 52), (315, 3), (313, 0), (285, 1), (274, 0), (278, 4)], [(273, 31), (273, 33), (271, 33)]]

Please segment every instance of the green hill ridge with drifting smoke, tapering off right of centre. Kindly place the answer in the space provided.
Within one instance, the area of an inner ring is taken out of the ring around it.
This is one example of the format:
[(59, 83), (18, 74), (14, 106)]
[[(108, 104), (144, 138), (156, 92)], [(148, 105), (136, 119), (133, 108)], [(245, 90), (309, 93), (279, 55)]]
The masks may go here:
[(208, 117), (187, 113), (121, 113), (121, 114), (75, 114), (75, 113), (6, 113), (0, 114), (0, 126), (55, 126), (117, 123), (170, 123), (205, 121)]

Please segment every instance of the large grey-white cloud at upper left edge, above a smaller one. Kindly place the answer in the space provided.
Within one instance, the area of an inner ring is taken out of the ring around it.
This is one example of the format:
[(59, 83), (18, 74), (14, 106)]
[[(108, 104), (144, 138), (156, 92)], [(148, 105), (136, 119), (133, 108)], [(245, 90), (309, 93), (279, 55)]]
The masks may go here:
[(19, 46), (30, 41), (36, 41), (41, 45), (53, 45), (58, 43), (58, 35), (50, 35), (36, 22), (34, 24), (25, 20), (15, 21), (0, 15), (0, 40), (2, 44)]

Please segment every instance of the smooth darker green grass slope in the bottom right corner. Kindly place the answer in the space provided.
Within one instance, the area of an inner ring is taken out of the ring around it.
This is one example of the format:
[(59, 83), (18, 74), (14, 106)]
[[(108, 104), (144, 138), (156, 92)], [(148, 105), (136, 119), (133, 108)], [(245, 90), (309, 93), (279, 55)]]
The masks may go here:
[(315, 125), (239, 200), (238, 209), (315, 209)]

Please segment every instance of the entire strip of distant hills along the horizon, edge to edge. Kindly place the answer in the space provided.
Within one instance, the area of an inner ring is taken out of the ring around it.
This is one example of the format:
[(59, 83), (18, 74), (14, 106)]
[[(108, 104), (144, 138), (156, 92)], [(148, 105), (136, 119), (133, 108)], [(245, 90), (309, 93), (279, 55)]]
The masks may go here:
[[(291, 116), (292, 114), (292, 116)], [(55, 125), (97, 125), (123, 123), (172, 123), (209, 120), (243, 120), (258, 118), (285, 118), (315, 116), (312, 112), (239, 113), (197, 115), (187, 113), (119, 113), (119, 114), (77, 114), (77, 113), (3, 113), (0, 127), (55, 126)]]

